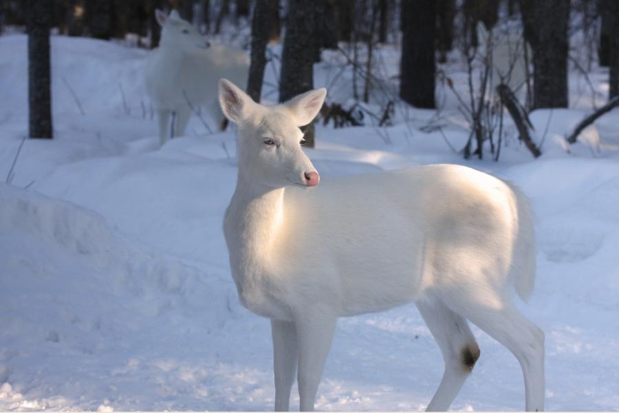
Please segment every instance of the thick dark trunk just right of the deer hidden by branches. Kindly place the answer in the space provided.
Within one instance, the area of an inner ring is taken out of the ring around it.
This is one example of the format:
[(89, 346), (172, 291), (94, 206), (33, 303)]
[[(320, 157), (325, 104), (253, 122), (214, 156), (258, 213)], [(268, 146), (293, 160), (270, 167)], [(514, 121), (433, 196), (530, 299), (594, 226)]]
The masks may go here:
[(533, 108), (567, 107), (569, 0), (520, 0), (533, 50)]

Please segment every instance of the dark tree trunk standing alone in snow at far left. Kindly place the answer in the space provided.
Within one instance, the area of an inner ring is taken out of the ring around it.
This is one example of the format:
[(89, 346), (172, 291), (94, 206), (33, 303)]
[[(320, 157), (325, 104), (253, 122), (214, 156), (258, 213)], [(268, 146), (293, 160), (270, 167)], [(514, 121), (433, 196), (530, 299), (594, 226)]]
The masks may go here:
[(30, 138), (52, 138), (50, 20), (52, 3), (28, 0), (28, 103)]

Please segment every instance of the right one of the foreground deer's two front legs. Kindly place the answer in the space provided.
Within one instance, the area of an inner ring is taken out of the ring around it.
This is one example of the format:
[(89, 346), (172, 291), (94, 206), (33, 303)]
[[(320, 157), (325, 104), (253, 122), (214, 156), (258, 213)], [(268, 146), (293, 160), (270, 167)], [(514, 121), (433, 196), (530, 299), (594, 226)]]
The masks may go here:
[(331, 348), (337, 317), (329, 310), (306, 309), (295, 319), (298, 340), (298, 396), (301, 412), (314, 410), (316, 390)]

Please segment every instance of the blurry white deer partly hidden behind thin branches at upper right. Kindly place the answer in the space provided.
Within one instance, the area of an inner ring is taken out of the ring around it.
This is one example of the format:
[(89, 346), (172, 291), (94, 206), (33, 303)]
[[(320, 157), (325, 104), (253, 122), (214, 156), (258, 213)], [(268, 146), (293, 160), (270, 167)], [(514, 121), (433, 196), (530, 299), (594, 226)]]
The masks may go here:
[(531, 47), (524, 41), (522, 33), (501, 32), (495, 25), (490, 32), (484, 23), (477, 23), (477, 51), (492, 65), (492, 76), (488, 86), (492, 93), (499, 83), (506, 83), (513, 91), (522, 90), (528, 70), (525, 59), (532, 59)]

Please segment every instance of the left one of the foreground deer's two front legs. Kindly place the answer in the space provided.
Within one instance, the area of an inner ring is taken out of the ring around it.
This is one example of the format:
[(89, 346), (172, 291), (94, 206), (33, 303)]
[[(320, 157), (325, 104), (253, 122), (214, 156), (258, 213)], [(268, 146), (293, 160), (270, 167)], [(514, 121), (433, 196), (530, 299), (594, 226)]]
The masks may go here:
[(287, 412), (290, 407), (290, 389), (298, 355), (296, 327), (290, 321), (271, 320), (273, 336), (273, 370), (275, 372), (275, 411)]

